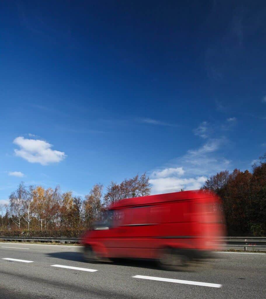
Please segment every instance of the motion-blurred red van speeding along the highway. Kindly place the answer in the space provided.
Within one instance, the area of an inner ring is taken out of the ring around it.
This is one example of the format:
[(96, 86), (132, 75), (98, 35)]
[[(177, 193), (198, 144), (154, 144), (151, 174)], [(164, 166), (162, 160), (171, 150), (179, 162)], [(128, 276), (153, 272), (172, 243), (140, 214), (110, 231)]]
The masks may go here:
[(224, 236), (219, 199), (205, 191), (183, 191), (114, 203), (81, 238), (88, 261), (157, 259), (165, 268), (204, 260)]

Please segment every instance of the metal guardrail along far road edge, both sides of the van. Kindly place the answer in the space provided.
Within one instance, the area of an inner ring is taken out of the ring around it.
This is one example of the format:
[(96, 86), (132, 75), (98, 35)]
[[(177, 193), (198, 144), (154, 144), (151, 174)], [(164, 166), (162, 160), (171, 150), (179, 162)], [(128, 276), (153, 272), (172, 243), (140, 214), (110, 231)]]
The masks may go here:
[[(2, 237), (0, 240), (6, 241), (31, 241), (31, 242), (59, 242), (59, 243), (79, 243), (79, 238), (68, 237)], [(263, 248), (266, 250), (266, 237), (220, 237), (215, 238), (216, 241), (222, 242), (218, 247), (237, 247), (256, 249)], [(256, 249), (258, 250), (258, 249)]]

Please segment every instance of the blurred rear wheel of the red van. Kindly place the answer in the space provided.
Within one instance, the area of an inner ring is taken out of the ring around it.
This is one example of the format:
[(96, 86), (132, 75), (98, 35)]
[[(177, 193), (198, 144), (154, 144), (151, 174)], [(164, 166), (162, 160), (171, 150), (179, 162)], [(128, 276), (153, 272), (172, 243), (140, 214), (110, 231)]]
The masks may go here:
[(177, 249), (164, 248), (159, 258), (159, 265), (164, 270), (182, 271), (187, 261), (188, 258)]

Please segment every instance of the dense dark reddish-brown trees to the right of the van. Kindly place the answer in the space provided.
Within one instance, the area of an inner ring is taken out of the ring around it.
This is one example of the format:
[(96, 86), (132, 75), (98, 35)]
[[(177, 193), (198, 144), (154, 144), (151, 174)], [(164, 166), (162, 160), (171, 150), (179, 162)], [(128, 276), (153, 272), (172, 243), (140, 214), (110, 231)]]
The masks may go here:
[(252, 172), (221, 171), (203, 186), (220, 196), (230, 236), (266, 235), (266, 154), (259, 161)]

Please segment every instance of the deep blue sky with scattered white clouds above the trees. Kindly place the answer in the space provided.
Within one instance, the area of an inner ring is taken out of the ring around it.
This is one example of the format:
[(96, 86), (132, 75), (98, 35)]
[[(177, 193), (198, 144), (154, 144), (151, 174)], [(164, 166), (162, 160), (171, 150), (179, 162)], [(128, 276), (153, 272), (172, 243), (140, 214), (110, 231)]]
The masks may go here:
[(142, 174), (200, 187), (266, 152), (264, 1), (2, 1), (0, 203)]

